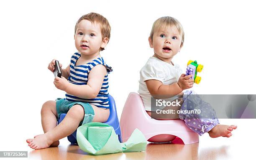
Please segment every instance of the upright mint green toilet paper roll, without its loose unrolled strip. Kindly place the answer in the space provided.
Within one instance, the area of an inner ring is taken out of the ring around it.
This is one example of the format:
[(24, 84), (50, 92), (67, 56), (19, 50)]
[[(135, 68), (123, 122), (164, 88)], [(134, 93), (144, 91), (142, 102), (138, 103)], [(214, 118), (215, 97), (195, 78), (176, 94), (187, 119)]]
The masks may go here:
[(95, 148), (100, 150), (108, 141), (113, 127), (88, 127), (88, 141)]

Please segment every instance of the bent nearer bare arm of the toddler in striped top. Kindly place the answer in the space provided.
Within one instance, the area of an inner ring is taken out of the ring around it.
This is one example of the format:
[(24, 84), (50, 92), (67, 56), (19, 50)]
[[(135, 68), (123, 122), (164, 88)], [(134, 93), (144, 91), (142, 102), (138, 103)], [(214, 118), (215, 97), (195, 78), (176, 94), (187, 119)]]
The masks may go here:
[(92, 99), (97, 97), (100, 89), (102, 87), (102, 83), (104, 80), (104, 76), (107, 74), (107, 70), (103, 65), (97, 65), (92, 68), (90, 74), (88, 76), (87, 85), (76, 85), (69, 83), (64, 89), (68, 94), (72, 94), (76, 97)]

